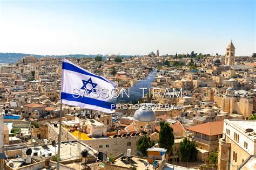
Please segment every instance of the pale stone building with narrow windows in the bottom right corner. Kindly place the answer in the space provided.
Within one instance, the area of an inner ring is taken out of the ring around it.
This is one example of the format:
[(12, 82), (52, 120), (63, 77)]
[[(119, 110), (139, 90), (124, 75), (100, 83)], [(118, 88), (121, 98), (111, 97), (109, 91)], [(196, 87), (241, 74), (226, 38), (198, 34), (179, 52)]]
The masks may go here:
[(246, 164), (255, 169), (255, 132), (256, 121), (224, 120), (223, 138), (219, 139), (218, 170), (244, 169), (241, 167)]

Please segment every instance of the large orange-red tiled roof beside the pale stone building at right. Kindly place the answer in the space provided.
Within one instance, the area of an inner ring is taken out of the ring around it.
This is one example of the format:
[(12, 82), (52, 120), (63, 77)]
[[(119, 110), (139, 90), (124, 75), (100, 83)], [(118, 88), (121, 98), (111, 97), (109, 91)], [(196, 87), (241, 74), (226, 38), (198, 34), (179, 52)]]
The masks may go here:
[(186, 129), (198, 133), (203, 133), (208, 136), (214, 136), (217, 134), (221, 134), (223, 132), (223, 125), (223, 121), (207, 122), (203, 124), (194, 125)]

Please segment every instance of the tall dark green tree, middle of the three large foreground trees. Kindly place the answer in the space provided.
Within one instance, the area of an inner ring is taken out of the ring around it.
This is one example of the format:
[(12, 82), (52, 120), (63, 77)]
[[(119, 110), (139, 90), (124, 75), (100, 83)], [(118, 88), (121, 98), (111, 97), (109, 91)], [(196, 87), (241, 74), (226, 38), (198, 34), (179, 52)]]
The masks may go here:
[(173, 129), (170, 127), (169, 123), (160, 123), (159, 132), (159, 146), (165, 148), (167, 152), (171, 151), (172, 145), (174, 144)]

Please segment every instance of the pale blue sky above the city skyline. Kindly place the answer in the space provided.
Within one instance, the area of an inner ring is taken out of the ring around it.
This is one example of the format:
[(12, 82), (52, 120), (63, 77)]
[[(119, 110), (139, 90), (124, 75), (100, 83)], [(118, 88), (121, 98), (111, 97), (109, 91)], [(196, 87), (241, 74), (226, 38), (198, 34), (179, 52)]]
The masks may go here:
[(255, 50), (255, 1), (3, 1), (0, 52), (224, 54)]

